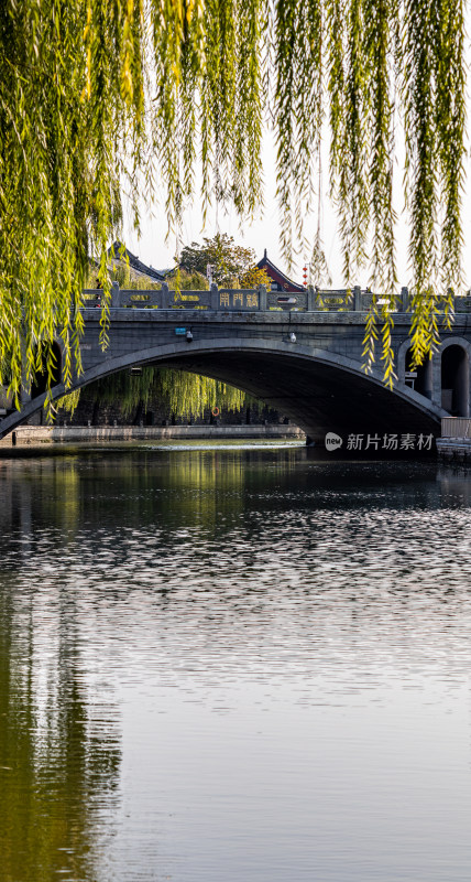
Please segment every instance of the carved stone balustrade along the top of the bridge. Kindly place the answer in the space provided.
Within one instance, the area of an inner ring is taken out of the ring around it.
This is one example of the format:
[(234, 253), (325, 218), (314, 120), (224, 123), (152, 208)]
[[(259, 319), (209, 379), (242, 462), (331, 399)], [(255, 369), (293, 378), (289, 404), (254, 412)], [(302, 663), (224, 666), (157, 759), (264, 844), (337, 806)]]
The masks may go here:
[[(99, 308), (102, 302), (101, 289), (84, 291), (84, 308)], [(368, 312), (373, 301), (371, 291), (359, 287), (327, 290), (307, 288), (306, 291), (283, 293), (270, 291), (265, 286), (250, 289), (218, 288), (211, 284), (209, 291), (174, 291), (167, 284), (157, 290), (121, 289), (113, 282), (111, 309), (161, 309), (161, 310), (216, 310), (218, 312)], [(381, 298), (379, 304), (381, 305)], [(410, 300), (407, 288), (396, 298), (395, 312), (409, 311)], [(440, 308), (440, 299), (437, 301)], [(456, 312), (471, 313), (471, 295), (454, 298)]]

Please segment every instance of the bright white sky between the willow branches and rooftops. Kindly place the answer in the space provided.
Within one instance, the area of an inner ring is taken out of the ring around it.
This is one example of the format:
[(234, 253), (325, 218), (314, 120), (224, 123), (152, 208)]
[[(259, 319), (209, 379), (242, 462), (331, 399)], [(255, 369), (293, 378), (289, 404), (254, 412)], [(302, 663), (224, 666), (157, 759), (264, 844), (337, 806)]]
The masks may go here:
[[(324, 169), (328, 169), (327, 143), (325, 147), (326, 155), (322, 160)], [(467, 162), (469, 165), (469, 161)], [(193, 207), (186, 213), (182, 228), (180, 247), (189, 245), (191, 241), (201, 241), (204, 236), (211, 237), (215, 233), (227, 233), (234, 237), (236, 241), (245, 245), (255, 250), (256, 259), (263, 256), (264, 248), (267, 249), (269, 257), (280, 266), (281, 269), (286, 270), (284, 261), (281, 257), (280, 249), (280, 223), (278, 223), (278, 208), (274, 197), (275, 193), (275, 150), (271, 139), (266, 138), (263, 151), (263, 170), (264, 170), (264, 193), (265, 205), (263, 212), (255, 217), (252, 225), (244, 224), (240, 226), (240, 220), (236, 212), (224, 213), (221, 207), (218, 209), (215, 205), (209, 211), (207, 216), (206, 227), (202, 229), (202, 218), (199, 208), (199, 197), (196, 194)], [(408, 224), (407, 217), (404, 213), (403, 200), (403, 169), (401, 158), (394, 169), (394, 190), (395, 190), (395, 208), (398, 216), (396, 227), (396, 257), (397, 257), (397, 277), (399, 286), (408, 284), (410, 281), (410, 273), (408, 270), (407, 247), (408, 247)], [(327, 171), (324, 174), (324, 190), (327, 189)], [(332, 287), (341, 288), (344, 284), (342, 276), (342, 261), (340, 254), (340, 239), (338, 234), (338, 223), (336, 209), (328, 198), (327, 192), (324, 193), (324, 223), (322, 223), (322, 237), (325, 254), (332, 277)], [(162, 201), (163, 202), (163, 201)], [(464, 278), (467, 286), (471, 281), (471, 238), (468, 235), (470, 227), (471, 214), (471, 198), (470, 194), (465, 194), (463, 205), (463, 227), (465, 235), (465, 249), (464, 249)], [(315, 218), (310, 218), (306, 224), (306, 232), (310, 238), (314, 239), (316, 229)], [(163, 269), (173, 266), (173, 258), (176, 252), (176, 236), (171, 235), (168, 240), (165, 240), (166, 234), (166, 218), (165, 211), (161, 203), (154, 207), (153, 213), (142, 211), (141, 222), (141, 238), (138, 235), (129, 220), (124, 224), (124, 236), (128, 247), (136, 254), (146, 263), (152, 263), (157, 269)], [(305, 262), (305, 257), (309, 255), (300, 255), (296, 259), (296, 269), (291, 273), (295, 281), (302, 282), (302, 269)], [(369, 271), (364, 269), (360, 278), (355, 280), (362, 287), (369, 283)]]

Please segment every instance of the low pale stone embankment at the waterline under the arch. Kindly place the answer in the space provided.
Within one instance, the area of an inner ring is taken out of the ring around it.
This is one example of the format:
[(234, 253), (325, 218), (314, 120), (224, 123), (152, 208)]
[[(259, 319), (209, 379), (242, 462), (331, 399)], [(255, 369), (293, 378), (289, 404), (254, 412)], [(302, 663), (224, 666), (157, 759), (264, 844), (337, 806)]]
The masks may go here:
[(297, 426), (20, 426), (0, 441), (0, 451), (52, 444), (169, 440), (306, 439)]

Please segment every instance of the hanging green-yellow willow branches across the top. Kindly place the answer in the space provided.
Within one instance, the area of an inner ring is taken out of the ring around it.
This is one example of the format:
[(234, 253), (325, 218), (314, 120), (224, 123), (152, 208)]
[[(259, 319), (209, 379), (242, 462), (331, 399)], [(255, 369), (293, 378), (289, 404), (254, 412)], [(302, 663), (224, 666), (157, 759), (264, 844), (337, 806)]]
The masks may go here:
[[(162, 211), (175, 226), (200, 163), (204, 209), (217, 198), (250, 215), (262, 195), (266, 127), (277, 146), (286, 256), (316, 205), (320, 139), (330, 138), (344, 281), (354, 282), (366, 261), (386, 300), (373, 308), (383, 313), (386, 375), (396, 283), (394, 141), (404, 133), (414, 345), (423, 357), (437, 338), (437, 297), (460, 286), (463, 7), (463, 0), (3, 0), (0, 363), (12, 389), (20, 388), (21, 363), (31, 378), (55, 327), (69, 378), (80, 334), (70, 303), (80, 303), (88, 255), (106, 281), (121, 193), (136, 205), (142, 192), (163, 190)], [(318, 246), (317, 237), (317, 255)]]

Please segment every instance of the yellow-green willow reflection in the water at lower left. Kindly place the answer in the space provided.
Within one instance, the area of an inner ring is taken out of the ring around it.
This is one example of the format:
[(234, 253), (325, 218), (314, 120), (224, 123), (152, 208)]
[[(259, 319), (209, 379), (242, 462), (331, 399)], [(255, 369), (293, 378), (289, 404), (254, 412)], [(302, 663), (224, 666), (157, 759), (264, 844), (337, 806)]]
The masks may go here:
[(19, 606), (14, 574), (0, 585), (1, 879), (96, 879), (96, 815), (118, 799), (116, 707), (90, 707), (59, 587), (37, 615), (33, 587)]

